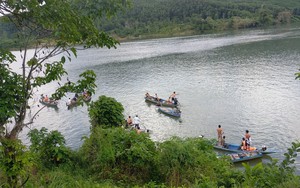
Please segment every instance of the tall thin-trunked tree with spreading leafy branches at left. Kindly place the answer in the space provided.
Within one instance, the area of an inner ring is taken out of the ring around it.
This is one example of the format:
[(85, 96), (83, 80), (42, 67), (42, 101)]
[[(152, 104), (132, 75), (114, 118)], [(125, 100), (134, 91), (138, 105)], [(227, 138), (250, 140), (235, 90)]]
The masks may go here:
[[(86, 6), (82, 6), (86, 5)], [(0, 49), (0, 142), (4, 147), (0, 153), (2, 158), (10, 158), (17, 153), (15, 147), (7, 140), (18, 139), (18, 134), (36, 115), (25, 122), (30, 106), (28, 101), (33, 97), (36, 88), (53, 81), (61, 80), (67, 72), (64, 69), (66, 59), (76, 57), (76, 46), (116, 47), (118, 42), (107, 33), (99, 31), (93, 22), (99, 17), (109, 17), (116, 11), (127, 7), (126, 0), (32, 0), (32, 1), (0, 1), (0, 16), (5, 17), (17, 30), (17, 41), (21, 62), (8, 49)], [(90, 9), (93, 7), (93, 9)], [(28, 49), (33, 48), (30, 55)], [(52, 57), (60, 55), (57, 61)], [(20, 72), (10, 69), (16, 63)], [(94, 93), (96, 75), (87, 70), (80, 75), (80, 80), (62, 84), (52, 95), (60, 99), (66, 92), (81, 92), (88, 89)], [(12, 125), (8, 129), (8, 124)], [(16, 154), (17, 155), (17, 154)], [(12, 167), (13, 168), (13, 167)], [(18, 172), (8, 174), (16, 178), (9, 182), (16, 187)]]

